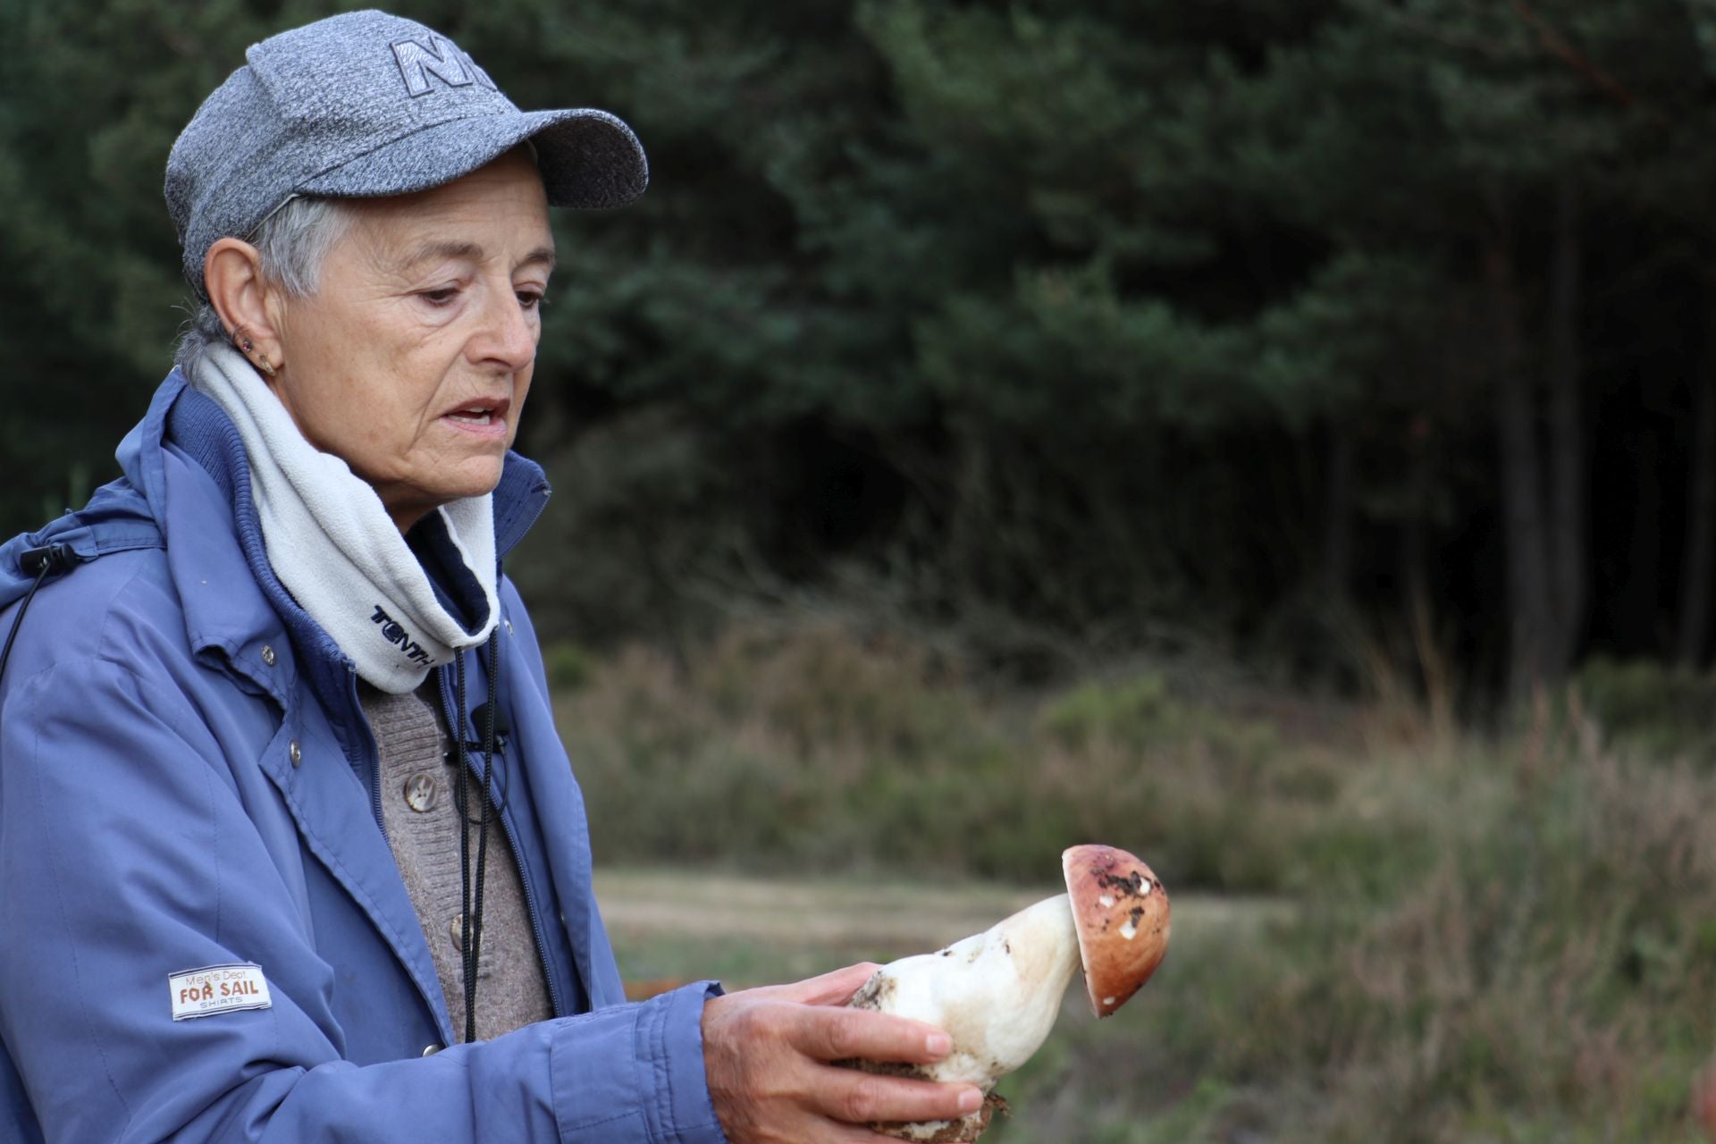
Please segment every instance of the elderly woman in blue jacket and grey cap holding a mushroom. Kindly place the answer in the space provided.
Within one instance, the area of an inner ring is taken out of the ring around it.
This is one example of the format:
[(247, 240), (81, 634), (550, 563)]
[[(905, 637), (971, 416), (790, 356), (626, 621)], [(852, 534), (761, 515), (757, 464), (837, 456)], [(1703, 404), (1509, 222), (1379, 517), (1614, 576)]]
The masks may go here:
[[(0, 1137), (863, 1141), (980, 1101), (865, 966), (625, 1003), (499, 571), (602, 111), (379, 12), (266, 39), (166, 170), (202, 302), (124, 479), (0, 549)], [(26, 607), (33, 611), (26, 616)]]

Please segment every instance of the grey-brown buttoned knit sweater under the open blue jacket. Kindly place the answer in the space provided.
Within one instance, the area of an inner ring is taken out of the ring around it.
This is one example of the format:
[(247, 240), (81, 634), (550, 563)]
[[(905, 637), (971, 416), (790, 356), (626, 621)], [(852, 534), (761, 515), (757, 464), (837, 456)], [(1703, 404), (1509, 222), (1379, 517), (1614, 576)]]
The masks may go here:
[[(400, 864), (405, 888), (417, 907), (436, 976), (453, 1019), (453, 1034), (465, 1034), (465, 969), (460, 955), (458, 779), (451, 739), (439, 705), (434, 676), (417, 691), (388, 695), (359, 684), (364, 715), (381, 753), (381, 818)], [(472, 818), (479, 784), (472, 779)], [(477, 863), (477, 827), (470, 832), (470, 863)], [(472, 875), (475, 876), (475, 875)], [(487, 1041), (553, 1017), (547, 979), (525, 909), (518, 861), (499, 818), (489, 818), (489, 861), (482, 887), (482, 952), (477, 962), (477, 1039)]]

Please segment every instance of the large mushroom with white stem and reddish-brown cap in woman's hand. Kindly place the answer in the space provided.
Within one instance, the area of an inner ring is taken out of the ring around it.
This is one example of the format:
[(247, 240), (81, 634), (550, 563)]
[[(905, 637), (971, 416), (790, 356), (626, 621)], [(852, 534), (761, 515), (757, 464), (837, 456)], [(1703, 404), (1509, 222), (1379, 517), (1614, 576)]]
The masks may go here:
[(978, 1139), (997, 1106), (995, 1079), (1043, 1043), (1072, 972), (1083, 966), (1090, 1007), (1107, 1017), (1162, 964), (1169, 895), (1150, 866), (1112, 846), (1074, 846), (1060, 856), (1067, 892), (1021, 909), (994, 928), (882, 966), (851, 1005), (946, 1029), (952, 1051), (934, 1065), (848, 1062), (858, 1069), (976, 1084), (988, 1099), (959, 1120), (873, 1123), (901, 1141)]

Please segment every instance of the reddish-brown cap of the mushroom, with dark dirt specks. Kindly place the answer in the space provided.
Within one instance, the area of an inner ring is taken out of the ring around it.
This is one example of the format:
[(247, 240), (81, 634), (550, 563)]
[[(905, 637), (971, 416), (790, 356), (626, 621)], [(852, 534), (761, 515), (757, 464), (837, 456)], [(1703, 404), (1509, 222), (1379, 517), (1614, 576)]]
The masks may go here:
[(1143, 988), (1169, 952), (1169, 895), (1157, 875), (1112, 846), (1060, 854), (1090, 1007), (1107, 1017)]

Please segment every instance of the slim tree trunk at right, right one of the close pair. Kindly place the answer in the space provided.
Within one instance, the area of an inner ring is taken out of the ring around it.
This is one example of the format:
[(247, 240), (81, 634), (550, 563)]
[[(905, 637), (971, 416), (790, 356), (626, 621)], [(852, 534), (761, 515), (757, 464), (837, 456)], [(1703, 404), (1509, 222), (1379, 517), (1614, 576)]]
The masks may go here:
[(1579, 304), (1584, 250), (1579, 184), (1562, 182), (1555, 201), (1555, 252), (1550, 266), (1548, 353), (1548, 516), (1550, 631), (1544, 676), (1565, 677), (1586, 623), (1586, 441), (1580, 417)]

